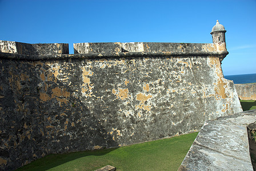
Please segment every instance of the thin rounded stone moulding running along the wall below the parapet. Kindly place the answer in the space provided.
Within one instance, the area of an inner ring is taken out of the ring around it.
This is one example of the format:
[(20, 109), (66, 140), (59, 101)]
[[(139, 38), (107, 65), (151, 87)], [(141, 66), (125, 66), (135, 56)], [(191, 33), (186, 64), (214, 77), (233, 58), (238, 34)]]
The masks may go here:
[(93, 53), (93, 54), (58, 54), (58, 55), (22, 55), (0, 52), (0, 59), (15, 60), (61, 60), (61, 59), (102, 59), (102, 58), (152, 58), (152, 57), (183, 57), (202, 56), (225, 58), (227, 51), (219, 52), (116, 52), (116, 53)]

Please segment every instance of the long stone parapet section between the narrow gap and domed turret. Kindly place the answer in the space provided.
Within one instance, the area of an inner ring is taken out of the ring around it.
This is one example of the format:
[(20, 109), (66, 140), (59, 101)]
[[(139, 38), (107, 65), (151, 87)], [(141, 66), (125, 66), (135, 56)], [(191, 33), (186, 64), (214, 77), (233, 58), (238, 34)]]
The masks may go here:
[(121, 54), (122, 52), (141, 52), (142, 54), (171, 55), (218, 55), (223, 60), (229, 52), (226, 43), (74, 43), (75, 54)]

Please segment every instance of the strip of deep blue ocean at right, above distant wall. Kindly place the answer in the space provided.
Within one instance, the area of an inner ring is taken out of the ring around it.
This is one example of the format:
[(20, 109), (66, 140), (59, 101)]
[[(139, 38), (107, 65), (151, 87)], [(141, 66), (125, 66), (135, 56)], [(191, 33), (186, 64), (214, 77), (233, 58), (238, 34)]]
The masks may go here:
[(233, 80), (234, 84), (256, 83), (256, 74), (224, 75), (224, 78)]

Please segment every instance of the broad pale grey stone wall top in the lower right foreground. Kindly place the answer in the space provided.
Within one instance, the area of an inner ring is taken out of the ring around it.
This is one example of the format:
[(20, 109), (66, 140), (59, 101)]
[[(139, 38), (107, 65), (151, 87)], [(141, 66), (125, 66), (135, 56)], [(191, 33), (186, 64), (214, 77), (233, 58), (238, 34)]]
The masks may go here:
[(253, 170), (247, 125), (256, 109), (208, 120), (178, 170)]

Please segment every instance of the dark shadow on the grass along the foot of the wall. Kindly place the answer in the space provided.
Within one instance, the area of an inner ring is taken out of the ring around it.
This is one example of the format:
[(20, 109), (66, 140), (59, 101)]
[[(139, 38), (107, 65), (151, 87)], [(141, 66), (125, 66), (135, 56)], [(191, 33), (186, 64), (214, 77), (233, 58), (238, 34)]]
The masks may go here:
[(59, 165), (65, 164), (66, 162), (77, 160), (78, 158), (81, 158), (81, 157), (103, 156), (115, 149), (118, 149), (118, 148), (87, 150), (83, 152), (71, 152), (71, 153), (62, 153), (62, 154), (49, 154), (17, 170), (49, 170)]

